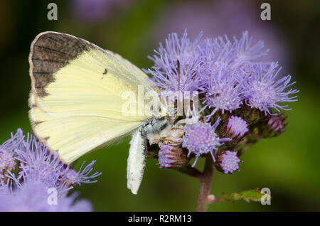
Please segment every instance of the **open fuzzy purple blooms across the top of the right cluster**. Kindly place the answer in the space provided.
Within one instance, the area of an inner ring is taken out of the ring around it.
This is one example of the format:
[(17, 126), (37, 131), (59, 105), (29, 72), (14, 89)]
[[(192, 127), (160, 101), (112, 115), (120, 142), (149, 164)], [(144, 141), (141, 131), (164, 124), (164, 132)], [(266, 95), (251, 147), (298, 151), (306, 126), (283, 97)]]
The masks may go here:
[(290, 95), (298, 90), (287, 90), (294, 84), (291, 76), (279, 77), (277, 63), (258, 62), (269, 51), (262, 41), (253, 43), (247, 31), (233, 41), (227, 36), (201, 41), (201, 36), (190, 41), (186, 31), (182, 38), (172, 33), (165, 45), (160, 43), (150, 57), (154, 66), (146, 70), (156, 88), (200, 91), (205, 95), (202, 110), (209, 108), (209, 117), (218, 110), (233, 112), (242, 104), (275, 114), (272, 109), (289, 110), (280, 102), (297, 101)]

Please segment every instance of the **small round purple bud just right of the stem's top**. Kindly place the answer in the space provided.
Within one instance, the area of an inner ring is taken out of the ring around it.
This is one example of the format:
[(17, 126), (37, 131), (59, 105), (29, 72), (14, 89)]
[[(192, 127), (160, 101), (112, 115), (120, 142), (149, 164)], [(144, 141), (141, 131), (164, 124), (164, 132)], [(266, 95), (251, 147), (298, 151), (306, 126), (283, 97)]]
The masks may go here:
[(215, 166), (222, 173), (233, 173), (239, 169), (240, 159), (236, 151), (221, 151), (218, 154)]

